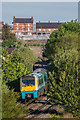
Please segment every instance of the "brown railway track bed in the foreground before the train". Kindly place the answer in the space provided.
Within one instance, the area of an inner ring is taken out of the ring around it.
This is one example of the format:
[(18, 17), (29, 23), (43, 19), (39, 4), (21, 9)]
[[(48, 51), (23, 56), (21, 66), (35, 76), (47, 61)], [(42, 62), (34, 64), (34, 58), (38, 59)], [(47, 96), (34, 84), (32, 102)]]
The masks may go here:
[(63, 113), (63, 109), (57, 105), (52, 105), (45, 96), (36, 100), (31, 105), (29, 104), (30, 113), (25, 118), (38, 119), (38, 118), (49, 118), (52, 114)]

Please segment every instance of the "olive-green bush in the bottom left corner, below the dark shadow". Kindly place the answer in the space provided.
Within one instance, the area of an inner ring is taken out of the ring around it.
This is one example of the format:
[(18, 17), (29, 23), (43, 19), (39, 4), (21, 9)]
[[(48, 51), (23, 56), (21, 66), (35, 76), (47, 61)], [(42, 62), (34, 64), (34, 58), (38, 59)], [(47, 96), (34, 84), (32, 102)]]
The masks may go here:
[(26, 106), (17, 102), (19, 97), (19, 93), (9, 90), (5, 84), (2, 85), (2, 118), (20, 118), (28, 113)]

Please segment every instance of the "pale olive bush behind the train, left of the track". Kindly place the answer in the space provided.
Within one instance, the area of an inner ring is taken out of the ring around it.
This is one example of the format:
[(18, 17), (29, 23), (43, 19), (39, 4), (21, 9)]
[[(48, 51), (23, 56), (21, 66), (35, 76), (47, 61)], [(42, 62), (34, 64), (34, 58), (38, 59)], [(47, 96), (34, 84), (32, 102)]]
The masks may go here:
[(38, 60), (38, 57), (33, 53), (29, 46), (26, 46), (25, 42), (19, 41), (16, 45), (16, 53), (24, 59), (24, 64), (27, 66), (28, 71), (33, 71), (33, 64)]

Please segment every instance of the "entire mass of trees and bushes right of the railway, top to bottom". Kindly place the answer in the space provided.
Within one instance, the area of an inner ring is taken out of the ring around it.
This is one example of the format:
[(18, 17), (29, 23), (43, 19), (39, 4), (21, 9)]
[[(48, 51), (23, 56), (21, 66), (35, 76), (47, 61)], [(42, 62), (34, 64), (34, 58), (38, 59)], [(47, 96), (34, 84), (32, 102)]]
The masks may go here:
[(51, 34), (44, 55), (49, 64), (48, 98), (65, 111), (80, 117), (79, 80), (80, 26), (76, 21), (64, 23)]

